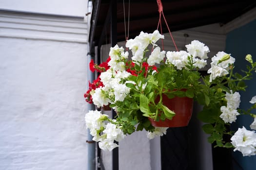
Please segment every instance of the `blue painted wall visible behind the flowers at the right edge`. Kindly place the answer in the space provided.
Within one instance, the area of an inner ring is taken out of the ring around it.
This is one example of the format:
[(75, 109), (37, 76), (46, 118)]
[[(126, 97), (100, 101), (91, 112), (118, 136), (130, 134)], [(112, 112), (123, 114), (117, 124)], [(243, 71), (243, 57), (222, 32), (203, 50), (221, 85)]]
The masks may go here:
[[(231, 53), (231, 56), (236, 58), (235, 69), (246, 69), (246, 65), (249, 63), (245, 60), (247, 54), (253, 56), (256, 61), (256, 20), (237, 28), (227, 34), (226, 39), (226, 51)], [(249, 101), (256, 95), (256, 73), (253, 74), (254, 80), (247, 81), (248, 88), (245, 92), (240, 93), (241, 103), (240, 108), (247, 109), (251, 106)], [(253, 110), (256, 113), (256, 109)], [(250, 124), (253, 122), (253, 118), (250, 116), (246, 118), (237, 118), (236, 123), (232, 126), (234, 130), (238, 127), (242, 128), (245, 125), (247, 130), (250, 129)], [(245, 156), (238, 151), (233, 153), (234, 156), (234, 170), (256, 170), (256, 155)]]

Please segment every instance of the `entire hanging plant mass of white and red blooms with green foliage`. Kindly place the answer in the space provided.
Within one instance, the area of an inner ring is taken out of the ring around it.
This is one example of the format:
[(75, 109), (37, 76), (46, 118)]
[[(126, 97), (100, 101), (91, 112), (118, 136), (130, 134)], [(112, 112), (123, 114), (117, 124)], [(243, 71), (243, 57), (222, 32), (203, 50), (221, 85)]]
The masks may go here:
[[(118, 147), (115, 140), (120, 141), (136, 131), (148, 131), (149, 138), (163, 135), (168, 127), (158, 127), (149, 119), (180, 121), (179, 112), (184, 106), (177, 109), (175, 102), (181, 97), (190, 101), (190, 109), (193, 101), (203, 106), (198, 115), (206, 123), (203, 130), (210, 134), (209, 142), (216, 142), (219, 147), (234, 147), (243, 155), (256, 154), (254, 131), (243, 127), (232, 133), (226, 129), (226, 125), (235, 122), (237, 116), (251, 115), (252, 122), (256, 117), (251, 113), (256, 108), (256, 97), (250, 101), (252, 107), (249, 110), (239, 109), (239, 91), (246, 89), (245, 81), (252, 79), (252, 71), (256, 71), (252, 56), (246, 56), (248, 70), (240, 75), (234, 72), (235, 58), (224, 51), (217, 52), (212, 57), (209, 74), (202, 76), (198, 70), (207, 65), (210, 51), (205, 44), (194, 40), (186, 45), (187, 51), (161, 51), (156, 42), (163, 38), (157, 30), (152, 34), (141, 32), (127, 41), (126, 47), (131, 51), (124, 51), (116, 45), (110, 48), (106, 62), (100, 65), (90, 63), (91, 70), (99, 71), (100, 75), (85, 94), (87, 102), (98, 107), (110, 104), (117, 112), (115, 119), (97, 110), (86, 114), (86, 126), (94, 136), (93, 140), (99, 142), (101, 149), (111, 151)], [(169, 99), (173, 102), (166, 102)], [(255, 124), (256, 121), (252, 123), (252, 129), (256, 129)], [(231, 136), (231, 143), (222, 140), (224, 134)]]

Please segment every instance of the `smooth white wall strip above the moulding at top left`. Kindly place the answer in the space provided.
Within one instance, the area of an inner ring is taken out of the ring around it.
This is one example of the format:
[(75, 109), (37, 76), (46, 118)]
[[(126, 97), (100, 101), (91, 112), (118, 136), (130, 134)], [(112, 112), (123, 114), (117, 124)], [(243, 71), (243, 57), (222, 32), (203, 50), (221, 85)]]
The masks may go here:
[(87, 3), (88, 0), (0, 0), (0, 9), (84, 17)]

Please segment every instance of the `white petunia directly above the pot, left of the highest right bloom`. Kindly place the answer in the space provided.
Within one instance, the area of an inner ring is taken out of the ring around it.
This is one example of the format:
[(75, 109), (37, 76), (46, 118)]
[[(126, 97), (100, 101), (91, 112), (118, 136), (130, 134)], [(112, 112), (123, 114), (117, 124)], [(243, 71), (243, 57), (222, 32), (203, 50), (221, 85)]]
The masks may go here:
[(167, 51), (166, 64), (171, 63), (176, 66), (177, 69), (182, 69), (187, 65), (189, 55), (190, 54), (186, 51)]

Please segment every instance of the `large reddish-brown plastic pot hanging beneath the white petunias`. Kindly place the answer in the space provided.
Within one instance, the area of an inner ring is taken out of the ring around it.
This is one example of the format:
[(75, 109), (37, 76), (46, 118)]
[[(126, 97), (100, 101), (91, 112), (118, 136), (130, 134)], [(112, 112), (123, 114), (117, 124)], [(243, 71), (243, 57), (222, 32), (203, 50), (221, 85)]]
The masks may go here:
[(187, 126), (192, 116), (193, 99), (188, 97), (174, 97), (169, 99), (163, 95), (163, 104), (170, 110), (174, 111), (176, 115), (173, 119), (165, 119), (155, 121), (149, 118), (151, 124), (155, 127), (183, 127)]

